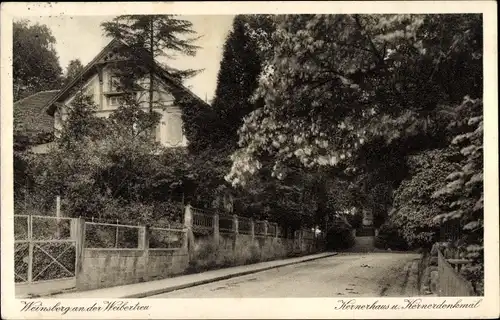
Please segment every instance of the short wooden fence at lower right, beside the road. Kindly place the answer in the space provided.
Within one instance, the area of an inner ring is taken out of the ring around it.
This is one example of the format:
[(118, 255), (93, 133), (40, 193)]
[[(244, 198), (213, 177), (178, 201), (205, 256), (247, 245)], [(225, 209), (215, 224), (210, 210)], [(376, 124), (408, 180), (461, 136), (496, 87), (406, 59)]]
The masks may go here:
[(439, 296), (467, 297), (476, 295), (472, 284), (459, 273), (461, 266), (467, 263), (470, 261), (446, 259), (438, 250)]

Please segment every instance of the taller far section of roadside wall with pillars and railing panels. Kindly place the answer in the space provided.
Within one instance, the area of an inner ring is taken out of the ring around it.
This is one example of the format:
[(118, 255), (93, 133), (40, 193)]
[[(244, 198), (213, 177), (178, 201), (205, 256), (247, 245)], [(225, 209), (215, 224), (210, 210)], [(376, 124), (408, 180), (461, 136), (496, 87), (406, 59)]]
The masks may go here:
[[(231, 222), (228, 227), (227, 221)], [(221, 217), (186, 206), (184, 222), (190, 239), (190, 272), (282, 259), (319, 251), (312, 230), (296, 230), (284, 237), (276, 223), (254, 221), (237, 215)]]

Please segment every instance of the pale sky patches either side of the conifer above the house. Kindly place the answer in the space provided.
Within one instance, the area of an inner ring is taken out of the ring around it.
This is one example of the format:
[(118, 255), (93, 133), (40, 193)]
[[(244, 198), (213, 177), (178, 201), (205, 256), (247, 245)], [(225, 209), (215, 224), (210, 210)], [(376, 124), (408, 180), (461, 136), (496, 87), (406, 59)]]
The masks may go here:
[[(182, 16), (193, 23), (193, 29), (202, 36), (196, 44), (201, 47), (196, 56), (178, 56), (168, 63), (178, 69), (204, 69), (186, 80), (188, 86), (200, 98), (213, 98), (217, 84), (224, 41), (231, 30), (233, 15)], [(69, 61), (80, 59), (89, 63), (111, 40), (104, 36), (100, 24), (113, 16), (42, 16), (29, 17), (32, 23), (47, 25), (56, 38), (55, 49), (59, 63), (66, 70)], [(162, 61), (163, 62), (163, 61)]]

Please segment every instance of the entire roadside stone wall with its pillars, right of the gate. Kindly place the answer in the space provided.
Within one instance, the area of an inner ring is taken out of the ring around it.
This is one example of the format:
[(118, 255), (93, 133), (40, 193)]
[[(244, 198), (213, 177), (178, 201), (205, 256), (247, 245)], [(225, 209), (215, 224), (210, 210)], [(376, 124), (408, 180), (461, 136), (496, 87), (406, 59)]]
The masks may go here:
[[(318, 251), (316, 240), (311, 239), (310, 231), (307, 230), (296, 231), (294, 239), (280, 237), (277, 229), (268, 227), (262, 235), (255, 234), (253, 227), (250, 234), (242, 234), (238, 232), (236, 220), (232, 232), (223, 232), (218, 228), (218, 220), (210, 218), (210, 221), (217, 222), (212, 230), (205, 228), (198, 232), (193, 228), (190, 210), (187, 209), (186, 212), (184, 229), (164, 229), (183, 234), (182, 242), (175, 249), (167, 244), (162, 249), (150, 248), (151, 233), (145, 226), (123, 226), (139, 229), (137, 248), (90, 248), (85, 236), (80, 237), (77, 241), (77, 289), (92, 290), (126, 285)], [(234, 218), (237, 219), (236, 216)], [(84, 220), (79, 221), (82, 234), (85, 234), (85, 224)]]

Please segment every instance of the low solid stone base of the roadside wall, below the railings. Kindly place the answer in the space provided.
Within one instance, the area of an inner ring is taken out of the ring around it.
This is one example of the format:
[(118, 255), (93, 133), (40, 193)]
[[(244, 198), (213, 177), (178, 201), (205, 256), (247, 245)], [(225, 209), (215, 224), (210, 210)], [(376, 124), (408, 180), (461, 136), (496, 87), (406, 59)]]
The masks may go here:
[[(293, 240), (244, 234), (195, 236), (191, 261), (187, 249), (83, 250), (78, 290), (93, 290), (164, 279), (188, 271), (257, 263), (316, 251), (313, 240)], [(189, 268), (191, 266), (191, 269)]]

